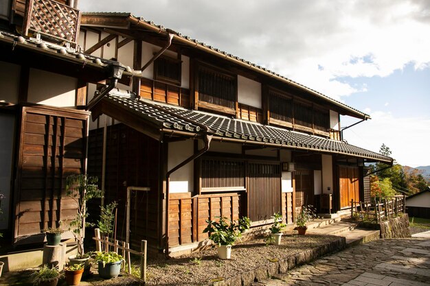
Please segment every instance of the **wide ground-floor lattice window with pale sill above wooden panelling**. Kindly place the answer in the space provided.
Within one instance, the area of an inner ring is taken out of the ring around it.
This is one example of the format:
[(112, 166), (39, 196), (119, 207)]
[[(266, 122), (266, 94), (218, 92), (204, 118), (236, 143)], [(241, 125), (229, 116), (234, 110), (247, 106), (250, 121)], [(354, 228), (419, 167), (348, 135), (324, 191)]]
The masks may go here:
[(201, 191), (245, 190), (245, 162), (204, 158), (201, 162)]

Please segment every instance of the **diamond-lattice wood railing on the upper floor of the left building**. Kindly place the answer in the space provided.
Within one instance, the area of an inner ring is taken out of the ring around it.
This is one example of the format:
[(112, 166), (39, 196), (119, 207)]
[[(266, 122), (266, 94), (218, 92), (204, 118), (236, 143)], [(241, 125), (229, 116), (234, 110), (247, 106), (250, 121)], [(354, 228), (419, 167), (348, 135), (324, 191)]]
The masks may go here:
[(52, 0), (27, 0), (24, 36), (30, 36), (33, 32), (76, 45), (79, 27), (79, 10)]

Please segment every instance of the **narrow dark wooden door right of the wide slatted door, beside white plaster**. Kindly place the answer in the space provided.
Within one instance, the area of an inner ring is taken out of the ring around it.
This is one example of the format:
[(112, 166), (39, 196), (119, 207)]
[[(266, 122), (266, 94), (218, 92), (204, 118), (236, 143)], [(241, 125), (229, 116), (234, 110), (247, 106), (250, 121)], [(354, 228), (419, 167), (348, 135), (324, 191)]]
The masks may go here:
[(295, 171), (295, 206), (313, 204), (313, 170), (297, 169)]

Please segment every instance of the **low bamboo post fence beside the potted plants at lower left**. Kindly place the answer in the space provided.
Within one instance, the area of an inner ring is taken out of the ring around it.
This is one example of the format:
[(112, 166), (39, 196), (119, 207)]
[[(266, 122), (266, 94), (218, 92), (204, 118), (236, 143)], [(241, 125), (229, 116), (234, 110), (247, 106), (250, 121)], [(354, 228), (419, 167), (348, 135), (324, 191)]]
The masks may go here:
[(124, 263), (122, 263), (122, 271), (126, 271), (126, 264), (127, 264), (127, 272), (128, 274), (131, 274), (131, 258), (130, 254), (135, 254), (140, 257), (140, 279), (144, 282), (146, 282), (146, 252), (147, 252), (147, 241), (142, 240), (141, 246), (140, 246), (140, 252), (136, 250), (132, 250), (130, 248), (130, 245), (128, 242), (125, 241), (109, 241), (108, 237), (105, 237), (105, 239), (102, 239), (100, 237), (100, 229), (95, 228), (94, 230), (95, 237), (93, 239), (95, 240), (95, 250), (97, 251), (105, 251), (109, 252), (109, 248), (111, 246), (113, 247), (113, 251), (118, 253), (118, 251), (122, 250), (122, 257), (124, 258)]

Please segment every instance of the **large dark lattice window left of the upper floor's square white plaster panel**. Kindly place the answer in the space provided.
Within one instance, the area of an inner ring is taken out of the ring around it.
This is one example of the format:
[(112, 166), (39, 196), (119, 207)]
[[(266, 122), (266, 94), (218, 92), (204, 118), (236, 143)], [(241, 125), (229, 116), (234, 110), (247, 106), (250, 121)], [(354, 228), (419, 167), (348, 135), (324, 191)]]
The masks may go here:
[(197, 76), (200, 101), (236, 108), (236, 77), (202, 66), (199, 67)]

